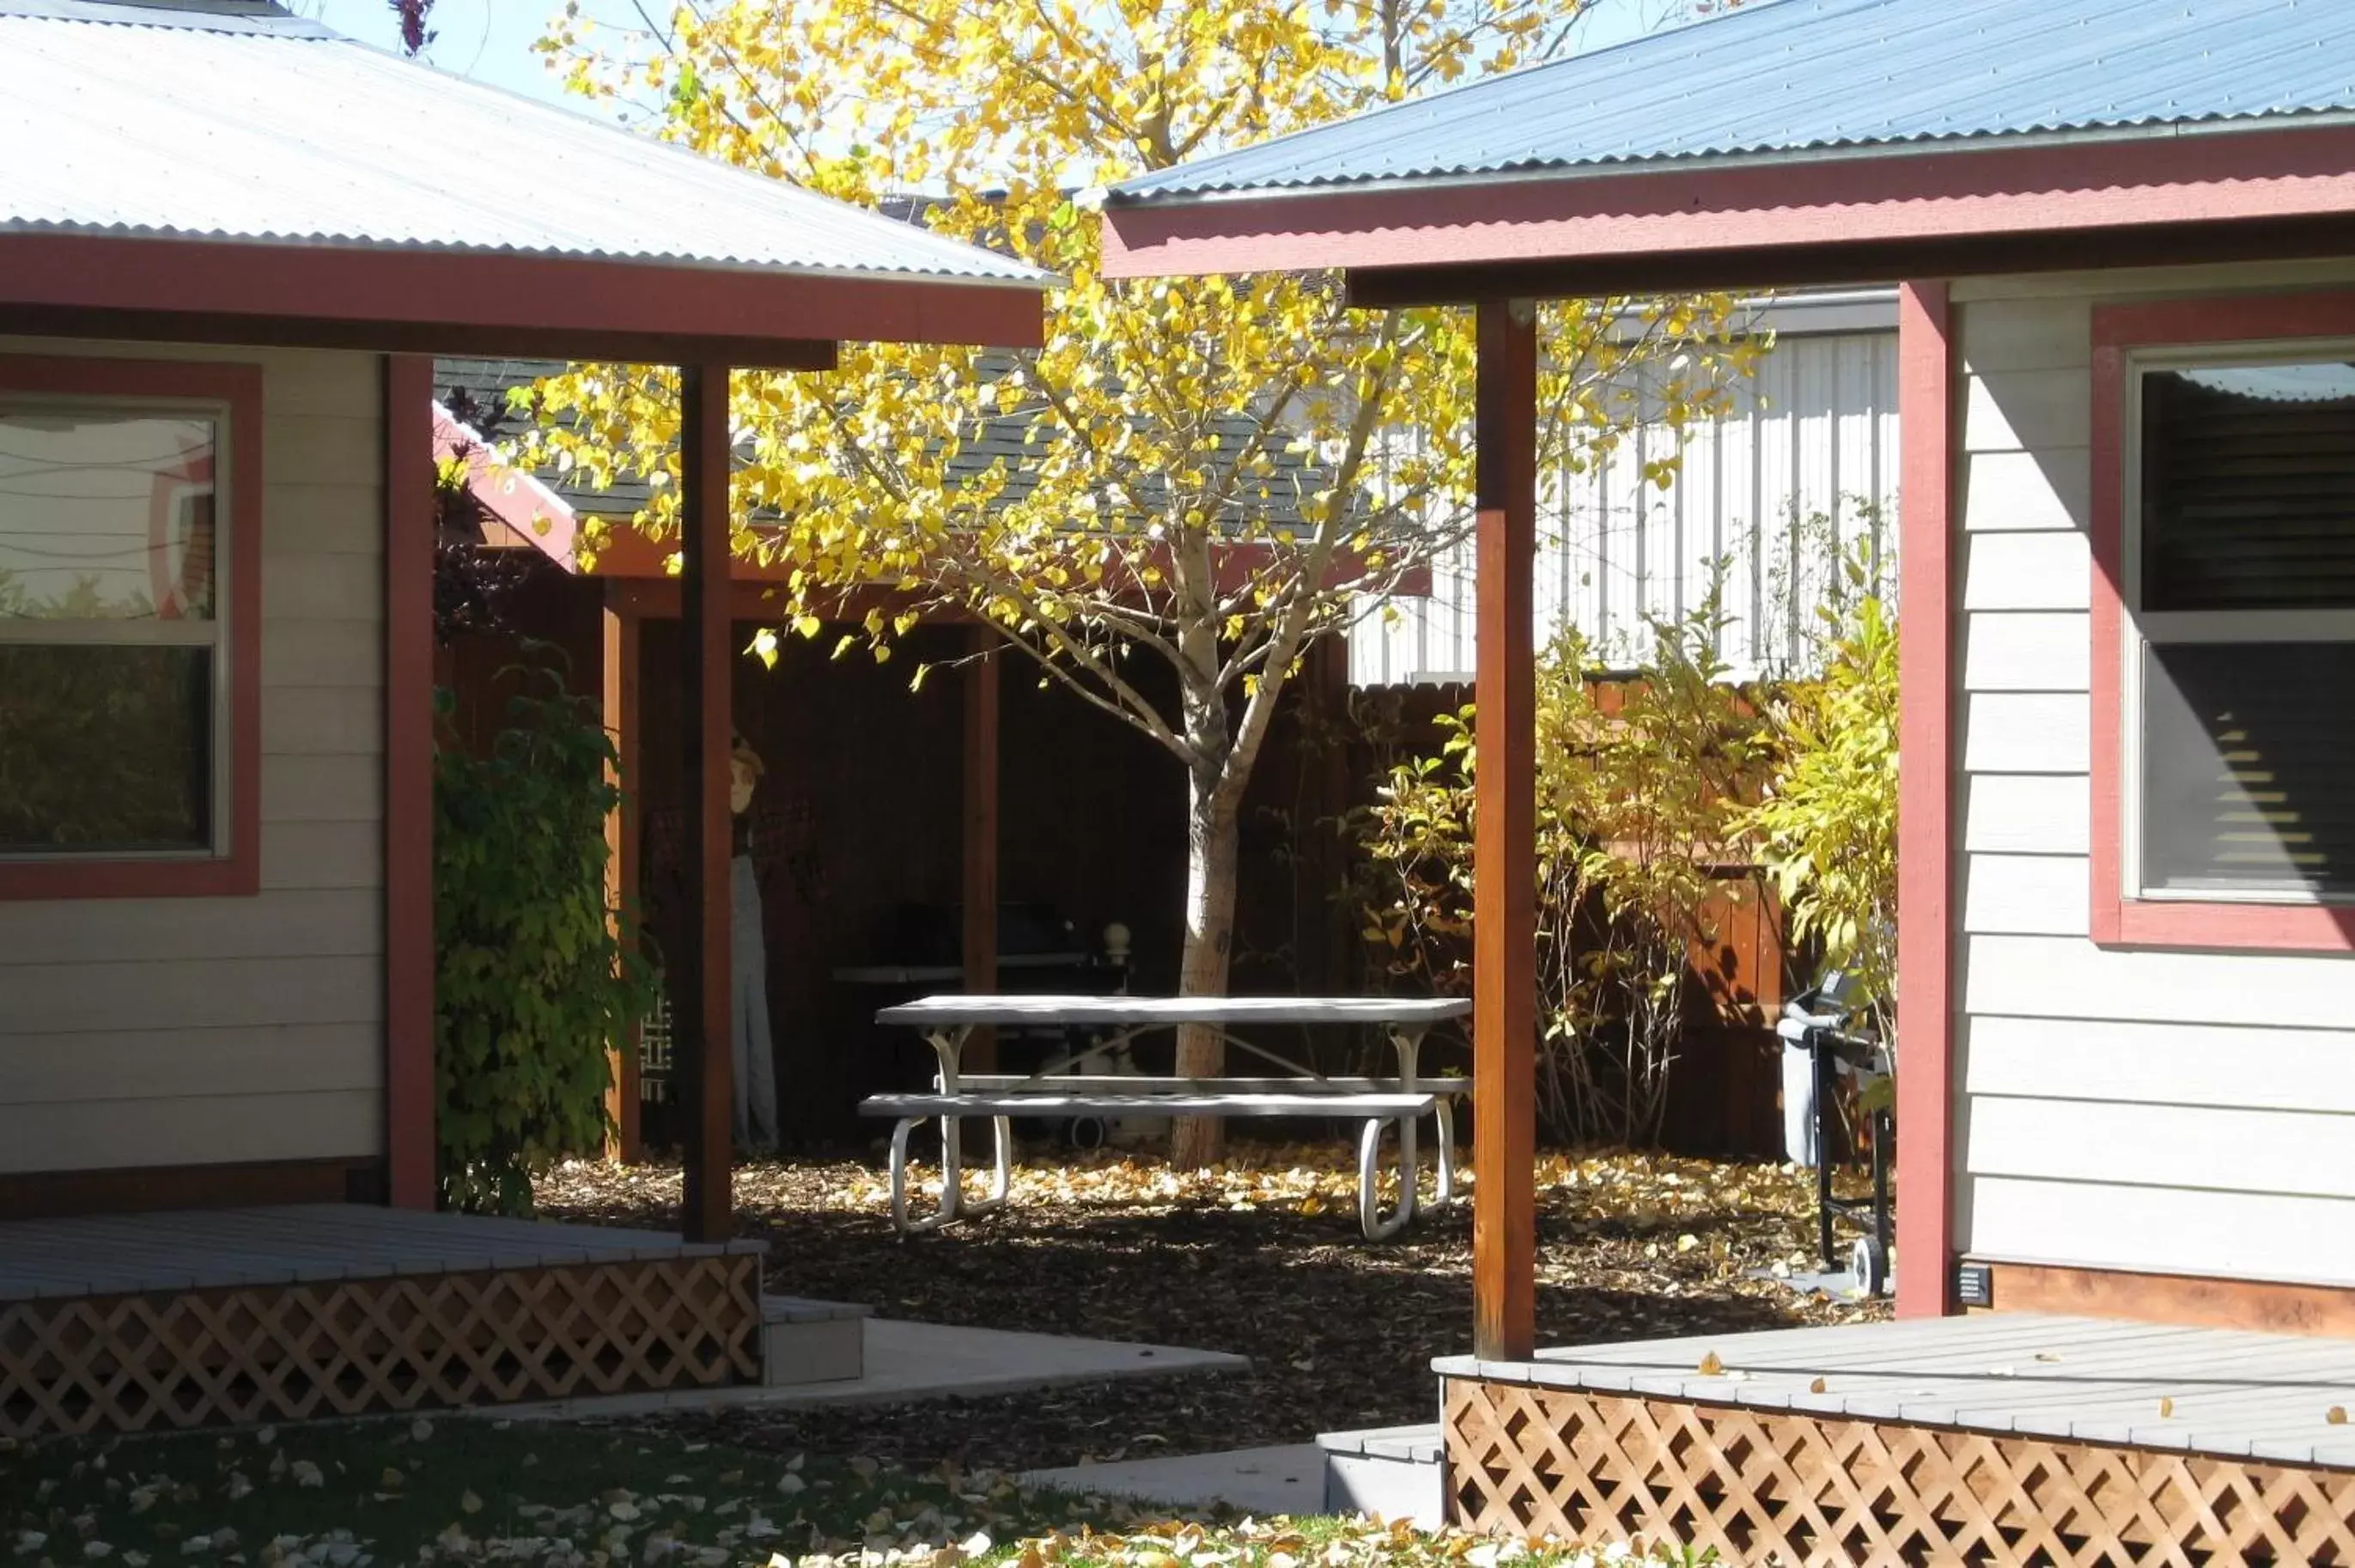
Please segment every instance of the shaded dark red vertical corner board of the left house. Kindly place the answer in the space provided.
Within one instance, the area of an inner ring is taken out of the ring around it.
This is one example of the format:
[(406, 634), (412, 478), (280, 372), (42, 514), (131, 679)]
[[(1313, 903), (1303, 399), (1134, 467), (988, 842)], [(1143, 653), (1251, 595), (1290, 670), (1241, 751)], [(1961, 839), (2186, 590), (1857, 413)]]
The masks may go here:
[(384, 1121), (398, 1208), (433, 1208), (433, 360), (384, 360)]

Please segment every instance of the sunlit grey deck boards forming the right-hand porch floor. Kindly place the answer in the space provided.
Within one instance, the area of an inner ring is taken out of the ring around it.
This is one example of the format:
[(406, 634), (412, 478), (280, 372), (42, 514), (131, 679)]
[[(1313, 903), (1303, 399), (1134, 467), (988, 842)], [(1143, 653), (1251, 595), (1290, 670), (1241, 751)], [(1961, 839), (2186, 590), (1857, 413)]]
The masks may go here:
[[(1712, 1354), (1722, 1375), (1700, 1373)], [(2355, 1340), (2016, 1311), (1434, 1366), (1486, 1382), (2355, 1467), (2355, 1424), (2329, 1422), (2334, 1406), (2355, 1415)]]

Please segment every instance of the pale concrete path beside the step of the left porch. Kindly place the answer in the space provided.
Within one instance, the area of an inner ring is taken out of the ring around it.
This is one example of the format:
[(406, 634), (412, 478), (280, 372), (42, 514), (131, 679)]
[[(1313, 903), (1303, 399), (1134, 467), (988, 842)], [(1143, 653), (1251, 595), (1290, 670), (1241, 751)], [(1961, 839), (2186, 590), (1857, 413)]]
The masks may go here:
[[(1020, 1394), (1064, 1382), (1104, 1377), (1159, 1377), (1170, 1373), (1241, 1373), (1246, 1356), (1126, 1344), (1119, 1340), (1069, 1340), (1017, 1335), (999, 1328), (949, 1328), (867, 1318), (867, 1375), (845, 1382), (801, 1382), (782, 1389), (683, 1389), (671, 1394), (612, 1394), (565, 1398), (544, 1406), (495, 1406), (504, 1417), (643, 1415), (648, 1410), (721, 1410), (737, 1406), (888, 1406), (911, 1398), (977, 1398)], [(1324, 1471), (1316, 1471), (1319, 1476)]]

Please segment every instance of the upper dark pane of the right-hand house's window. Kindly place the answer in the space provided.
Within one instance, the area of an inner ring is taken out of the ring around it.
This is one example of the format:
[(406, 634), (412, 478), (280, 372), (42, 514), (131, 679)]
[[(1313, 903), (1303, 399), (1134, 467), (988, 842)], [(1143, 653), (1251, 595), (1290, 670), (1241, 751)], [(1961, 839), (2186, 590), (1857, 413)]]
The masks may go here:
[(2355, 605), (2355, 365), (2143, 374), (2141, 603)]

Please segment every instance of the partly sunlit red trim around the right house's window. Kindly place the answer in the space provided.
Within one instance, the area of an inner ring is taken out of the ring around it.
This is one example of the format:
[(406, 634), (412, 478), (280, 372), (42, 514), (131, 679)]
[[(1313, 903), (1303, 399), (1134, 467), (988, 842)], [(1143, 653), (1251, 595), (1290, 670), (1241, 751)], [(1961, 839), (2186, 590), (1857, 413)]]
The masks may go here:
[(2094, 311), (2094, 864), (2091, 935), (2103, 946), (2355, 951), (2355, 906), (2134, 899), (2122, 892), (2127, 353), (2197, 344), (2355, 337), (2355, 294), (2235, 294)]

